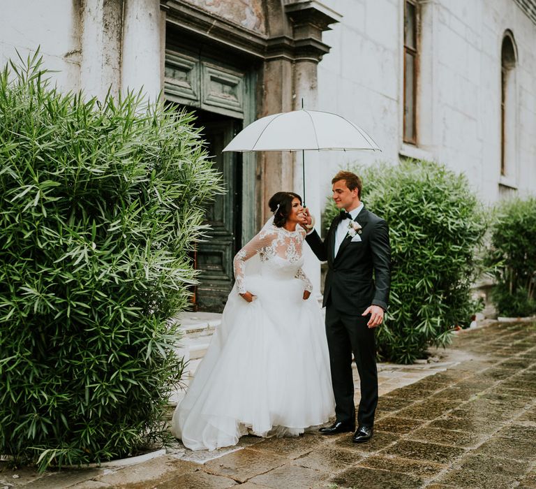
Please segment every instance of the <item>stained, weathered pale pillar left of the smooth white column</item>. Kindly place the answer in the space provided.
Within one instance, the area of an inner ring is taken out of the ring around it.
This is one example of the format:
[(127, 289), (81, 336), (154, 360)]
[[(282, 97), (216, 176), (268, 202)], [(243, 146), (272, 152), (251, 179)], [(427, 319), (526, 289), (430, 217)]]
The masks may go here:
[(121, 82), (123, 0), (82, 3), (80, 87), (88, 96), (117, 96)]

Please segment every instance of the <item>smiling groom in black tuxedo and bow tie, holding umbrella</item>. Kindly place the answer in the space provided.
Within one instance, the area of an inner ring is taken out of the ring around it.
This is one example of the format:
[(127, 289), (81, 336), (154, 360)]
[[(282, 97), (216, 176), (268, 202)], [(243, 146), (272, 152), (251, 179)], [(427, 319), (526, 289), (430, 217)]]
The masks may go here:
[[(354, 354), (361, 386), (355, 443), (373, 436), (378, 404), (378, 370), (374, 328), (383, 321), (391, 279), (387, 223), (364, 208), (362, 181), (348, 171), (332, 180), (333, 199), (341, 213), (333, 220), (322, 242), (316, 231), (306, 240), (320, 261), (327, 261), (324, 287), (326, 335), (335, 396), (336, 421), (320, 428), (325, 435), (355, 430)], [(306, 214), (306, 228), (312, 228)]]

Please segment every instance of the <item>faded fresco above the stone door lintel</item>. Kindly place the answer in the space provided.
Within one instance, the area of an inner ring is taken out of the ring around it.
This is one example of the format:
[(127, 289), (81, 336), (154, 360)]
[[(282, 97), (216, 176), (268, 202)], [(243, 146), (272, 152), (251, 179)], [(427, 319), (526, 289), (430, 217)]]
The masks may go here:
[(242, 27), (265, 34), (262, 0), (188, 0), (219, 17), (237, 22)]

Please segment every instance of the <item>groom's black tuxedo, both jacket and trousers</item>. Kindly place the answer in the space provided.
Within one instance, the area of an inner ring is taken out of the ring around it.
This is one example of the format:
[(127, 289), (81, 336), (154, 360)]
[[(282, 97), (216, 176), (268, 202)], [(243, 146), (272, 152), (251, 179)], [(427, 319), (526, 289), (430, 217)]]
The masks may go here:
[(378, 404), (374, 329), (366, 326), (370, 316), (361, 314), (370, 305), (387, 309), (391, 249), (383, 219), (363, 208), (355, 221), (362, 226), (361, 241), (352, 242), (346, 235), (336, 256), (335, 235), (341, 217), (333, 220), (323, 242), (316, 231), (306, 240), (318, 259), (328, 265), (323, 305), (337, 421), (355, 423), (353, 352), (361, 384), (358, 423), (372, 426)]

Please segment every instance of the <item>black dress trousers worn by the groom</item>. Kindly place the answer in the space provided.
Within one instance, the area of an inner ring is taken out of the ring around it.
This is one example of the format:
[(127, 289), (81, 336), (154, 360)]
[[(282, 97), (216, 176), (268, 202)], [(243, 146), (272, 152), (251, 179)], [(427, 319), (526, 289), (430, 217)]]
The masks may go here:
[(370, 318), (370, 314), (349, 316), (338, 312), (333, 305), (326, 307), (326, 336), (336, 421), (355, 423), (353, 352), (361, 387), (357, 424), (368, 427), (374, 425), (374, 413), (378, 405), (375, 328), (366, 326)]

